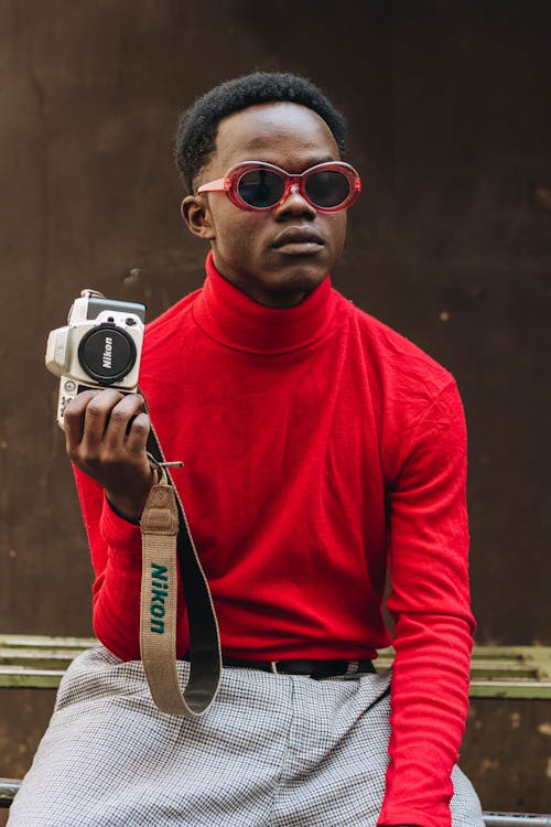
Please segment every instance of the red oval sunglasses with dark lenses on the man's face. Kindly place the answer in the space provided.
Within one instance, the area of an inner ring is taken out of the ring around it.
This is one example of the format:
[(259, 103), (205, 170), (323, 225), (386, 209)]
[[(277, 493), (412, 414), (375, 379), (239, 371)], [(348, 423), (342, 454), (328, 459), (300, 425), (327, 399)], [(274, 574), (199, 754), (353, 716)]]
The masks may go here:
[(311, 167), (301, 175), (263, 161), (242, 161), (225, 178), (198, 187), (197, 193), (225, 192), (240, 210), (273, 210), (291, 193), (301, 195), (321, 213), (336, 213), (352, 206), (361, 190), (361, 181), (349, 163), (329, 161)]

